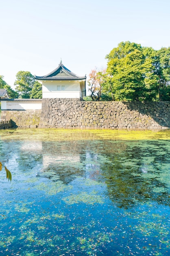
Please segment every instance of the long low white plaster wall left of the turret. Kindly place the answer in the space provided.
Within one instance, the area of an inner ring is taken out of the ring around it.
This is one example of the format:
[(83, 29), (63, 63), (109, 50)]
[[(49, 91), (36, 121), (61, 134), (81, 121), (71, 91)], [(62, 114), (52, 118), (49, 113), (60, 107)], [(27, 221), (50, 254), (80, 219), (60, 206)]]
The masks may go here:
[(41, 101), (1, 101), (1, 110), (39, 110)]

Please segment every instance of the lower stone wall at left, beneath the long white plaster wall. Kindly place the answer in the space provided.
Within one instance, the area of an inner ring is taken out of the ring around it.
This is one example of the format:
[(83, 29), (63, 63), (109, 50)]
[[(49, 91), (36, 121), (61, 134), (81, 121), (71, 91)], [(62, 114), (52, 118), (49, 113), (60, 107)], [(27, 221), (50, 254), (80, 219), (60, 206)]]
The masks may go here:
[(1, 119), (11, 119), (12, 127), (37, 128), (41, 110), (2, 110)]

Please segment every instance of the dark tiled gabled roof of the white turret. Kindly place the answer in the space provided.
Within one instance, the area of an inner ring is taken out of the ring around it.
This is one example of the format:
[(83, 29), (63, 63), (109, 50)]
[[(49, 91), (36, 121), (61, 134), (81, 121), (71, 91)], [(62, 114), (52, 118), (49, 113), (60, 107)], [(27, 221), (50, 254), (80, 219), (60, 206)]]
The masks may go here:
[(86, 76), (77, 76), (67, 67), (65, 67), (62, 62), (60, 62), (59, 66), (47, 74), (46, 76), (35, 76), (37, 80), (83, 80), (86, 79)]

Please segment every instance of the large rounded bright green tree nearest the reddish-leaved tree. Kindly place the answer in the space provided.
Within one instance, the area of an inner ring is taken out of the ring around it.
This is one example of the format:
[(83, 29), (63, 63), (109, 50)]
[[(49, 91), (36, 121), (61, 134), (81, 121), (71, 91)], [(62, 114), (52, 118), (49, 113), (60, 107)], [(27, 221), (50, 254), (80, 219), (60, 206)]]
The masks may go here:
[(152, 72), (152, 60), (146, 58), (141, 45), (121, 42), (106, 56), (107, 83), (115, 100), (145, 100), (148, 89), (145, 79)]

